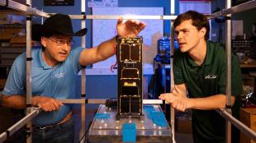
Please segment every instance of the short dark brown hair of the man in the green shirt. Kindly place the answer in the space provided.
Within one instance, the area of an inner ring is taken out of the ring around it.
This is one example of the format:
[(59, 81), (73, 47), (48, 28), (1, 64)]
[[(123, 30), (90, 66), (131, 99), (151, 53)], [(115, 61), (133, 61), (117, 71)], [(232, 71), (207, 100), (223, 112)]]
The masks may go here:
[(197, 27), (197, 30), (201, 30), (201, 28), (206, 28), (206, 35), (205, 39), (209, 39), (209, 33), (210, 33), (210, 25), (209, 21), (207, 20), (207, 17), (203, 14), (196, 12), (196, 11), (187, 11), (181, 15), (178, 15), (178, 17), (175, 19), (173, 26), (174, 28), (180, 25), (183, 21), (189, 21), (192, 20), (192, 25)]

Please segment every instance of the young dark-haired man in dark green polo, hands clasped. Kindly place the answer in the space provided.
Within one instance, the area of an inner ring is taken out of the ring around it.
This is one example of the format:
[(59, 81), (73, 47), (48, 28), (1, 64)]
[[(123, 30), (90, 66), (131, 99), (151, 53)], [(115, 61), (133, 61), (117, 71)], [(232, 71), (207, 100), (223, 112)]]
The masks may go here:
[[(208, 40), (210, 26), (206, 16), (188, 11), (174, 21), (179, 49), (174, 53), (174, 88), (162, 94), (173, 108), (192, 108), (192, 135), (195, 143), (224, 143), (225, 118), (215, 109), (225, 108), (226, 56), (225, 48)], [(239, 59), (232, 54), (231, 103), (238, 118), (242, 78)], [(187, 98), (187, 91), (190, 98)], [(235, 128), (234, 128), (235, 130)], [(239, 142), (239, 131), (232, 132), (232, 142)]]

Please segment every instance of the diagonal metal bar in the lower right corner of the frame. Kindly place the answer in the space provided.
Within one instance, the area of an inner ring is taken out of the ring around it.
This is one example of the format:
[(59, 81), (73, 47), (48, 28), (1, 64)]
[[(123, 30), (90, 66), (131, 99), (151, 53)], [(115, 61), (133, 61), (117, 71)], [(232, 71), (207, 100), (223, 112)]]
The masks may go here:
[(256, 141), (256, 132), (252, 131), (249, 127), (245, 126), (243, 122), (240, 122), (238, 119), (234, 118), (230, 113), (225, 109), (217, 109), (216, 112), (220, 113), (223, 118), (228, 119), (232, 124), (242, 131), (245, 135), (249, 136), (250, 139)]

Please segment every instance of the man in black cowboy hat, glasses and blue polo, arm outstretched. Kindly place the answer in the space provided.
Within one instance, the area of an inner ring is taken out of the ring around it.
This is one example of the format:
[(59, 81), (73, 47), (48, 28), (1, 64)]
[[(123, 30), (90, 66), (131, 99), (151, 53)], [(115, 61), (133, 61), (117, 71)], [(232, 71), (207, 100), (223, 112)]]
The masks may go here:
[[(35, 27), (34, 27), (35, 28)], [(117, 36), (136, 36), (144, 22), (116, 24)], [(110, 58), (116, 53), (116, 37), (94, 48), (73, 48), (73, 36), (83, 36), (87, 29), (73, 33), (71, 19), (55, 14), (38, 25), (34, 39), (41, 48), (32, 49), (32, 106), (43, 109), (33, 119), (33, 142), (73, 142), (72, 109), (59, 99), (73, 99), (73, 83), (81, 66)], [(33, 32), (34, 33), (34, 32)], [(2, 104), (10, 108), (26, 108), (26, 53), (17, 57), (2, 92)]]

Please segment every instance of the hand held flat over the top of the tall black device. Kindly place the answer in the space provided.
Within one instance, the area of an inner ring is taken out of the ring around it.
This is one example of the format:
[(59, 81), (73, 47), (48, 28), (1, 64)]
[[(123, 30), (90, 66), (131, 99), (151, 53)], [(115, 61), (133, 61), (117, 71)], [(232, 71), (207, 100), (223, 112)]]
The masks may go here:
[(118, 19), (116, 30), (121, 37), (135, 37), (141, 30), (145, 29), (145, 22), (127, 20), (123, 23), (122, 17)]

